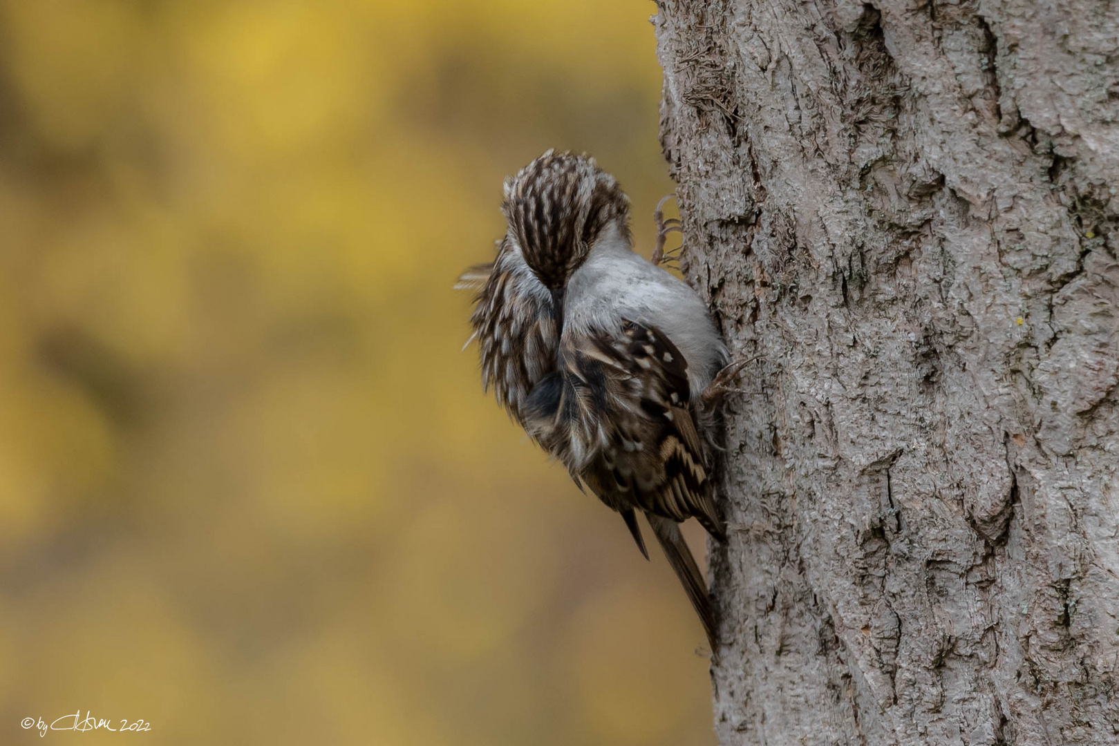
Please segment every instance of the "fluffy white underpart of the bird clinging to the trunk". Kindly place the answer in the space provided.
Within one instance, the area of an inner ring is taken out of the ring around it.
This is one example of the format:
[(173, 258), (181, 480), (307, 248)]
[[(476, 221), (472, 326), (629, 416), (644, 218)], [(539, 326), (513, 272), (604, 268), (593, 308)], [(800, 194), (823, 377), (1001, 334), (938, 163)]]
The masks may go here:
[(617, 330), (623, 320), (658, 328), (684, 355), (688, 385), (698, 396), (726, 361), (726, 347), (694, 290), (634, 254), (608, 226), (564, 292), (564, 336)]

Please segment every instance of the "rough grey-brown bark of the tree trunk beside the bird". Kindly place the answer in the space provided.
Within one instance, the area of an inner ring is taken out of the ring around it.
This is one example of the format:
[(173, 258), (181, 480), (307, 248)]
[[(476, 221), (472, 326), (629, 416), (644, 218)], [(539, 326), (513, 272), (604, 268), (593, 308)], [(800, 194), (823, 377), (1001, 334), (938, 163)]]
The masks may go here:
[(1119, 4), (664, 0), (723, 744), (1119, 743)]

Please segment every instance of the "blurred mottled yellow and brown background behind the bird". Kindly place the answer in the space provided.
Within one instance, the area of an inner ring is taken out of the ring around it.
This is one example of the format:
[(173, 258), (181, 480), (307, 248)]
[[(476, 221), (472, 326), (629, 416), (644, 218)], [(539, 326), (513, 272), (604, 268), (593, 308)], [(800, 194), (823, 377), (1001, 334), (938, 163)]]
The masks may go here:
[[(655, 11), (3, 2), (0, 743), (714, 743), (683, 591), (451, 290), (551, 147), (648, 253)], [(151, 731), (20, 727), (79, 708)]]

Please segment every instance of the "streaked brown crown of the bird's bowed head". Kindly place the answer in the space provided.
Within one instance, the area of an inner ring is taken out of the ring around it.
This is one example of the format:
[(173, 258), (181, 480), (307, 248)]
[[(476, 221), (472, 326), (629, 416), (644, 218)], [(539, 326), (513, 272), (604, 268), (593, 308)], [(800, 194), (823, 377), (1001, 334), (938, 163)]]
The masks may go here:
[(506, 180), (501, 210), (525, 262), (551, 290), (563, 287), (611, 221), (629, 238), (629, 199), (587, 155), (547, 151)]

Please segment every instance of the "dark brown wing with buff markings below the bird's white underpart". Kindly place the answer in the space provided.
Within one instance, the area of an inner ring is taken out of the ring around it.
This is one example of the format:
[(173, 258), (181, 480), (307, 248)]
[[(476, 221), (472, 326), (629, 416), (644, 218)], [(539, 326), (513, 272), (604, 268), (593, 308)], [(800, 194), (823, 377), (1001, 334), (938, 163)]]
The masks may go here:
[[(565, 331), (554, 378), (529, 396), (526, 428), (603, 502), (725, 537), (696, 429), (687, 360), (656, 327)], [(627, 520), (642, 547), (636, 521)]]

